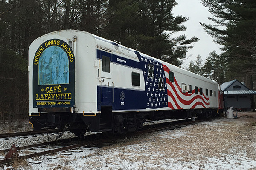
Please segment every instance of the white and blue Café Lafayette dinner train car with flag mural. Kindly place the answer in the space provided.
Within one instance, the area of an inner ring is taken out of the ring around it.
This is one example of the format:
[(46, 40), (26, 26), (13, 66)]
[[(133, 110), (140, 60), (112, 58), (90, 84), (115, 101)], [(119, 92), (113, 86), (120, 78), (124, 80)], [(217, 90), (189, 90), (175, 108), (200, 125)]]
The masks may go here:
[(223, 108), (217, 82), (84, 31), (34, 40), (28, 71), (35, 130), (125, 133), (146, 119), (209, 117)]

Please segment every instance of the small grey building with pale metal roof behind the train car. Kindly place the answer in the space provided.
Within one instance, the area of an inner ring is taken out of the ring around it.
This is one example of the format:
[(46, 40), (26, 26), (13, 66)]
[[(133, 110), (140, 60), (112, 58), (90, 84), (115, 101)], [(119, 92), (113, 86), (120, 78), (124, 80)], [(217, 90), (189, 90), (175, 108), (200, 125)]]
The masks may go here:
[(256, 91), (250, 90), (238, 80), (224, 82), (221, 85), (221, 90), (224, 91), (225, 108), (233, 106), (242, 111), (251, 110), (253, 95), (256, 94)]

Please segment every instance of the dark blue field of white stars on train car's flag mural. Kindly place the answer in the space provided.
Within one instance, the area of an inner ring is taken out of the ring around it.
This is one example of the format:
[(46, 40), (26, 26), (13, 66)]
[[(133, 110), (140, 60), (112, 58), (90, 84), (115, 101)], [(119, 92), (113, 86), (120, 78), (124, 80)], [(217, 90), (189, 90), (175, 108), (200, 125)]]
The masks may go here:
[(139, 59), (143, 65), (142, 70), (147, 97), (146, 108), (156, 109), (168, 107), (166, 77), (163, 65), (147, 56), (140, 55)]

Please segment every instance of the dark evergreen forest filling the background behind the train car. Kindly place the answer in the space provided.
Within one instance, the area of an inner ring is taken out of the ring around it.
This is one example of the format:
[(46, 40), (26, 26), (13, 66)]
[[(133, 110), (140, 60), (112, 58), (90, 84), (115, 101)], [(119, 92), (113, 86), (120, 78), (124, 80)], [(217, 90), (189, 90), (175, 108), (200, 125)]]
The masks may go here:
[[(201, 3), (215, 23), (201, 26), (224, 52), (212, 51), (204, 63), (198, 55), (188, 70), (220, 84), (238, 79), (255, 90), (255, 0)], [(87, 31), (181, 66), (199, 39), (175, 36), (189, 19), (174, 16), (176, 5), (175, 0), (0, 0), (0, 119), (27, 119), (28, 48), (52, 31)]]

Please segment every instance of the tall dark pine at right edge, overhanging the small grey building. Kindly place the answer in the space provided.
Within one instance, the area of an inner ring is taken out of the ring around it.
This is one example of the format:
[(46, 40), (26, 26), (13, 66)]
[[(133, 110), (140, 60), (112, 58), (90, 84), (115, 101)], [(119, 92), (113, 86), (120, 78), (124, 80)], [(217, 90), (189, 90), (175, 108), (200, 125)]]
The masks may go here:
[[(229, 69), (239, 77), (249, 77), (253, 88), (256, 75), (256, 3), (255, 0), (202, 0), (214, 17), (215, 25), (201, 23), (223, 50)], [(240, 75), (240, 76), (239, 76)]]

